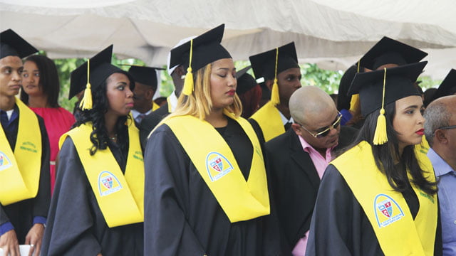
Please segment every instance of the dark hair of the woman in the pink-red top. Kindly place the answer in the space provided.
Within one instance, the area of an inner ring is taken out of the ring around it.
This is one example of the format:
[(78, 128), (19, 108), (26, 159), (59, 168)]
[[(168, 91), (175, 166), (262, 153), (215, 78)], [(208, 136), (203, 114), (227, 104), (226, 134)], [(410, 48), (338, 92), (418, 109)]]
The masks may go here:
[[(48, 104), (51, 107), (60, 107), (58, 105), (58, 93), (60, 92), (60, 82), (56, 64), (45, 55), (31, 55), (25, 61), (31, 61), (36, 64), (40, 73), (41, 89), (45, 95), (48, 95)], [(21, 101), (28, 105), (28, 95), (21, 90)]]

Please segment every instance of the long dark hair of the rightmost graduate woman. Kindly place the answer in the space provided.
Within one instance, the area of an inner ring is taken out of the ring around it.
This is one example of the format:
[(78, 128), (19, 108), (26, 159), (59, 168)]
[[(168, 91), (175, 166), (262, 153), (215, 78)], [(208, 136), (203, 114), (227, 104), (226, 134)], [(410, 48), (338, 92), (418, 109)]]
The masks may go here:
[[(383, 145), (373, 145), (373, 137), (375, 127), (377, 125), (379, 111), (374, 111), (368, 114), (366, 122), (361, 127), (355, 141), (347, 147), (351, 149), (362, 141), (366, 141), (372, 146), (372, 154), (375, 159), (375, 165), (385, 174), (390, 186), (398, 192), (404, 192), (410, 188), (407, 169), (411, 182), (418, 186), (421, 190), (429, 195), (437, 193), (436, 183), (432, 183), (425, 178), (423, 171), (418, 164), (415, 156), (414, 145), (405, 146), (403, 154), (399, 155), (398, 132), (393, 128), (393, 118), (395, 117), (395, 102), (385, 106), (386, 131), (388, 134), (388, 142)], [(397, 168), (394, 164), (394, 159), (398, 159), (400, 167)]]

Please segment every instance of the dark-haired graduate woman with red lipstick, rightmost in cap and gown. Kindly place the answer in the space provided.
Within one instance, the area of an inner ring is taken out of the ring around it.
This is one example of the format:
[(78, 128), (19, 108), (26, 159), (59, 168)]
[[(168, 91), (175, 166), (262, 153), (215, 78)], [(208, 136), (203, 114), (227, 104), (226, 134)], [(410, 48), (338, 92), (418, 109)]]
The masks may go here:
[(325, 171), (306, 255), (442, 255), (435, 175), (422, 143), (425, 64), (356, 75), (366, 122)]

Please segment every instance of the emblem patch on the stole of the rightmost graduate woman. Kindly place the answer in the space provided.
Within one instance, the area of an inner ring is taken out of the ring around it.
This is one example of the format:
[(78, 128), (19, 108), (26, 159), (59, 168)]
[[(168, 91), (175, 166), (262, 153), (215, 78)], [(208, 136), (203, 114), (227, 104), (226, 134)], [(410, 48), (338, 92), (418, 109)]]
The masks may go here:
[(385, 194), (375, 196), (373, 208), (378, 228), (385, 228), (387, 225), (400, 220), (404, 216), (404, 212), (398, 203)]

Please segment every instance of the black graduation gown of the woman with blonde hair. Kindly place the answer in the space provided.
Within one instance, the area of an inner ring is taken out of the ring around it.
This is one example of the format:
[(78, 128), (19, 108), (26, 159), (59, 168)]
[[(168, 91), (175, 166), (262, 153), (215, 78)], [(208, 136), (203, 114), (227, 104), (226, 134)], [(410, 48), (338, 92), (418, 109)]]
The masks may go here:
[[(247, 135), (231, 119), (219, 132), (247, 177), (253, 154)], [(150, 137), (144, 159), (146, 255), (280, 255), (272, 218), (230, 223), (166, 124)]]

